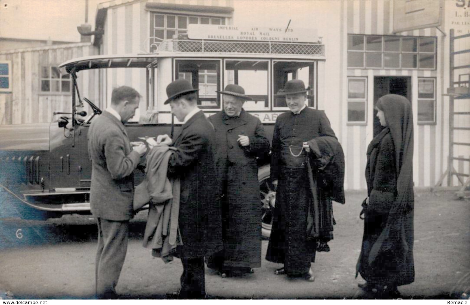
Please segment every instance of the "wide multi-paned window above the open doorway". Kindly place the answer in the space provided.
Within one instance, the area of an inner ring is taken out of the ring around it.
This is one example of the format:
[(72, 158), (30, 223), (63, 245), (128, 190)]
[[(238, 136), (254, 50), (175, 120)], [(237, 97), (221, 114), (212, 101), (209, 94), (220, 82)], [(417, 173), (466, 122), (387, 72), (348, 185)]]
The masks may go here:
[(436, 69), (436, 37), (348, 35), (348, 68)]

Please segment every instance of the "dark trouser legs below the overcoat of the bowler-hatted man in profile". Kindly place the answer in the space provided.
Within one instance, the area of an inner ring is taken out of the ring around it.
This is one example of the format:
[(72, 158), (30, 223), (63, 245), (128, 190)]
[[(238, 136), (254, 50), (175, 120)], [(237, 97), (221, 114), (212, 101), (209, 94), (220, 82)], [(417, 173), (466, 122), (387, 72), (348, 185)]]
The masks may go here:
[(181, 259), (183, 274), (181, 274), (181, 298), (205, 297), (204, 257)]

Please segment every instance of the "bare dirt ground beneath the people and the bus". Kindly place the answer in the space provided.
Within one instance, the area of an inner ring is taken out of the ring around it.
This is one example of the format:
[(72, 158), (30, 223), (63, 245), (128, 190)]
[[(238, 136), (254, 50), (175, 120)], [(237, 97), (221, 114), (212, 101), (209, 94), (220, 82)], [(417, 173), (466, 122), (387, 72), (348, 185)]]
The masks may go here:
[[(347, 192), (335, 203), (337, 225), (330, 252), (317, 253), (315, 282), (274, 275), (280, 265), (243, 277), (220, 278), (206, 269), (210, 298), (353, 298), (364, 297), (355, 279), (363, 222), (360, 203), (366, 193)], [(2, 211), (11, 198), (0, 193)], [(179, 260), (164, 264), (142, 247), (145, 212), (131, 222), (127, 257), (118, 283), (123, 298), (164, 298), (179, 288)], [(399, 287), (403, 298), (468, 298), (470, 295), (470, 202), (454, 192), (415, 192), (415, 282)], [(0, 297), (93, 298), (96, 225), (87, 215), (26, 221), (0, 212)], [(262, 242), (262, 256), (267, 241)]]

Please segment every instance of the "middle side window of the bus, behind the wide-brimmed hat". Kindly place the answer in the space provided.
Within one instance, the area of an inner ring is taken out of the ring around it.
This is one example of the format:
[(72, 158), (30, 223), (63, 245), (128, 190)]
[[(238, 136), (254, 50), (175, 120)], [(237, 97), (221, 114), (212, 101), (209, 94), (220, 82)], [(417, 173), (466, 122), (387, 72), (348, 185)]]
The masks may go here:
[(245, 110), (268, 110), (268, 61), (226, 60), (224, 87), (237, 84), (243, 87), (245, 94), (253, 100), (243, 104)]

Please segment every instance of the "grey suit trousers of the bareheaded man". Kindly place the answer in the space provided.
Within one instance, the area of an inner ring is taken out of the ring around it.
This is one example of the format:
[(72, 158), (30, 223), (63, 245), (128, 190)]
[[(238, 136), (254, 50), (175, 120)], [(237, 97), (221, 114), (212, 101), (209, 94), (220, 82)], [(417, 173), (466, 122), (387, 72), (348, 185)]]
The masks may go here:
[(129, 240), (129, 221), (98, 218), (98, 250), (96, 252), (96, 297), (116, 297), (116, 285), (124, 264)]

